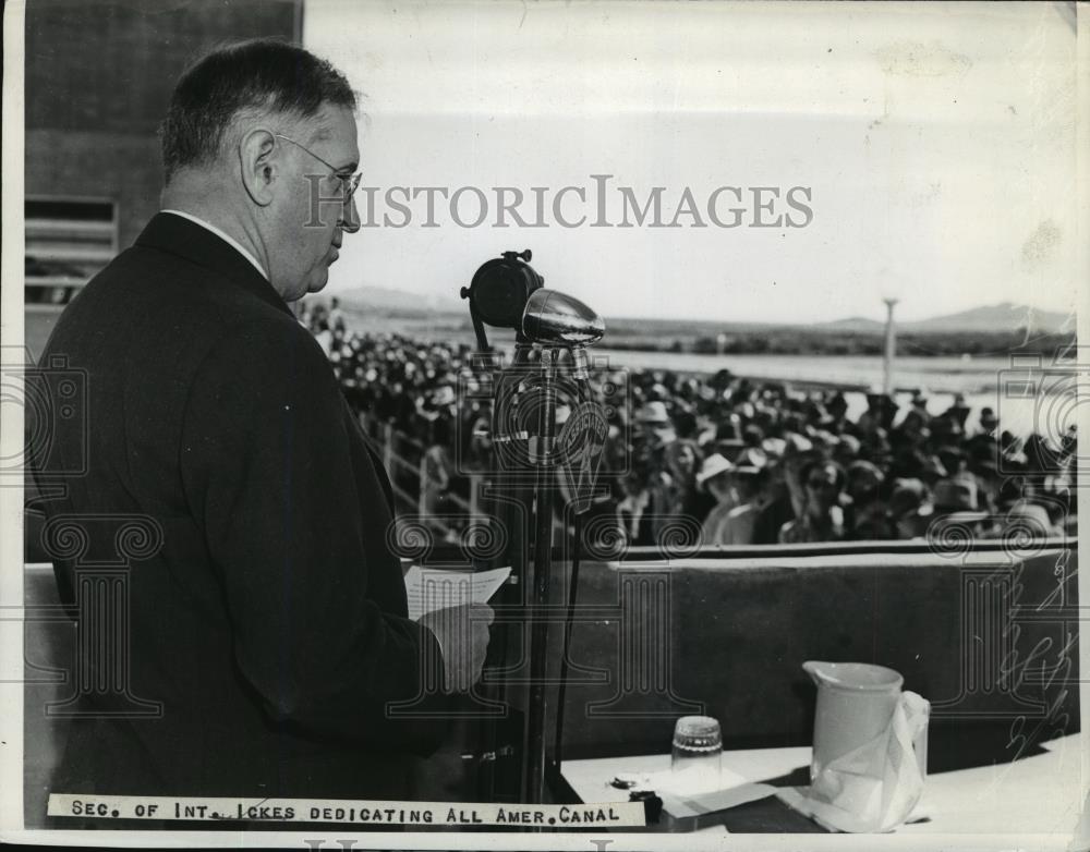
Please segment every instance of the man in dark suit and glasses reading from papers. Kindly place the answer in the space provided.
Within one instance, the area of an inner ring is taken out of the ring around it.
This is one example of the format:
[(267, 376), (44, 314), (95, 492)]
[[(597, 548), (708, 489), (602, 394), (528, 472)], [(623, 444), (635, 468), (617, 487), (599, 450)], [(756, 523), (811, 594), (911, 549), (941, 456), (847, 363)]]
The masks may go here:
[(407, 618), (386, 474), (287, 305), (359, 229), (354, 109), (300, 48), (196, 63), (162, 127), (164, 211), (49, 341), (88, 399), (85, 430), (51, 436), (55, 463), (87, 465), (44, 504), (47, 533), (82, 528), (62, 597), (95, 618), (80, 572), (117, 559), (125, 519), (158, 543), (130, 552), (128, 657), (84, 654), (78, 678), (125, 689), (84, 691), (55, 792), (411, 798), (412, 756), (480, 675), (491, 610)]

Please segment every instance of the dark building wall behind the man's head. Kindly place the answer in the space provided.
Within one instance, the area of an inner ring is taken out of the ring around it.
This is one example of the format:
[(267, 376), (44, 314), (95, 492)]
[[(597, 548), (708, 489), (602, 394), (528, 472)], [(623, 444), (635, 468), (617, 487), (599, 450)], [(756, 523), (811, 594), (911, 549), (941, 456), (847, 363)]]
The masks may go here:
[(302, 38), (302, 0), (28, 0), (26, 195), (118, 204), (132, 244), (158, 209), (156, 131), (174, 82), (227, 40)]

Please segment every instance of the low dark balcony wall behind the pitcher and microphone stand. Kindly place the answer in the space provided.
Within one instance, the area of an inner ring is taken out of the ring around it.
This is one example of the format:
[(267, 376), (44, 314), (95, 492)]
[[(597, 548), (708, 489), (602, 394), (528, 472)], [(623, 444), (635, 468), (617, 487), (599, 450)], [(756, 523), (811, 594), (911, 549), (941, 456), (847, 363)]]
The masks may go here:
[[(619, 570), (588, 562), (580, 570), (583, 614), (572, 638), (578, 668), (567, 694), (565, 757), (668, 752), (677, 717), (694, 711), (719, 719), (727, 748), (809, 745), (816, 693), (799, 668), (807, 659), (900, 671), (905, 689), (934, 705), (932, 771), (1009, 762), (1016, 747), (1032, 754), (1042, 740), (1079, 727), (1078, 646), (1064, 650), (1077, 641), (1076, 564), (1074, 547), (1017, 558), (779, 555)], [(25, 813), (33, 826), (40, 825), (65, 735), (46, 706), (74, 689), (49, 682), (48, 672), (71, 673), (74, 633), (58, 618), (49, 567), (28, 568), (25, 579), (31, 611), (49, 617), (28, 619), (25, 633)], [(626, 609), (635, 613), (629, 629)], [(1069, 665), (1055, 671), (1061, 655)], [(549, 658), (556, 673), (559, 649)], [(524, 657), (514, 647), (508, 659)], [(514, 704), (518, 692), (508, 696)], [(552, 735), (554, 718), (547, 721)], [(424, 767), (423, 798), (480, 801), (483, 781), (460, 754), (481, 747), (481, 730), (460, 726)], [(495, 771), (506, 772), (512, 759)]]

